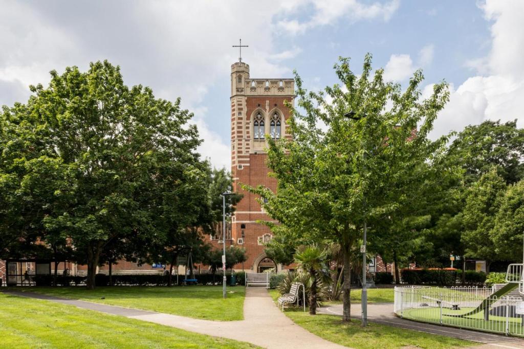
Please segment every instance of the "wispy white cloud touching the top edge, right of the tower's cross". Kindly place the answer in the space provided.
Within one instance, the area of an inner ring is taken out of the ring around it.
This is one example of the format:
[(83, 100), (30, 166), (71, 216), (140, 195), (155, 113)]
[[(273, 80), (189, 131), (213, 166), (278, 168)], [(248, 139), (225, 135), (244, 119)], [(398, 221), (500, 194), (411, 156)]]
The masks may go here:
[(312, 6), (314, 15), (309, 20), (300, 22), (297, 19), (285, 19), (279, 21), (277, 27), (296, 35), (314, 27), (335, 25), (340, 18), (347, 18), (352, 22), (375, 18), (388, 21), (399, 5), (399, 0), (369, 5), (357, 0), (309, 0), (301, 2), (300, 5), (294, 3), (293, 6), (293, 9)]

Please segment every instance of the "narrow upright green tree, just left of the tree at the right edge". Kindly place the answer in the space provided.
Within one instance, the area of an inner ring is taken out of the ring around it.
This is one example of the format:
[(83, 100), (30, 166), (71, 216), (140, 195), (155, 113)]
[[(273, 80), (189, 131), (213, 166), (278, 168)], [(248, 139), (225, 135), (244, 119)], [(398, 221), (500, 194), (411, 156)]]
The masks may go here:
[(505, 191), (504, 178), (498, 175), (497, 167), (492, 167), (468, 189), (462, 212), (466, 256), (486, 260), (488, 271), (489, 264), (500, 258), (493, 246), (491, 232)]

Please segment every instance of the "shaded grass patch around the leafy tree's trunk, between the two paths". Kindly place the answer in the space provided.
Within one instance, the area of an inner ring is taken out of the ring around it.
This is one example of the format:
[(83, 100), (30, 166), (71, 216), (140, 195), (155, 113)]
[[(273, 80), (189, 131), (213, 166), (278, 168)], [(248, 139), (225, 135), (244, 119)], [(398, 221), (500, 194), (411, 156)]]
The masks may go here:
[[(376, 289), (374, 289), (376, 290)], [(269, 294), (277, 300), (280, 294), (270, 290)], [(286, 309), (286, 315), (294, 323), (325, 340), (352, 348), (401, 348), (414, 346), (421, 348), (451, 348), (472, 347), (478, 343), (463, 341), (446, 336), (440, 336), (419, 331), (400, 329), (374, 322), (368, 322), (368, 327), (362, 329), (359, 320), (343, 323), (339, 316), (318, 314), (311, 316), (302, 309)]]

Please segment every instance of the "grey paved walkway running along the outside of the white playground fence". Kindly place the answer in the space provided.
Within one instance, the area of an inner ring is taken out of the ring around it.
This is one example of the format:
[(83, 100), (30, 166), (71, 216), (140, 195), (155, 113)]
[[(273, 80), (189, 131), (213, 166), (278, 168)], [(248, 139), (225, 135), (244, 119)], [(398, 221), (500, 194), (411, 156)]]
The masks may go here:
[[(352, 317), (361, 317), (361, 305), (355, 303), (351, 305)], [(319, 313), (335, 314), (342, 316), (342, 304), (331, 307), (320, 308)], [(370, 303), (367, 306), (367, 317), (369, 321), (382, 323), (385, 325), (395, 326), (403, 329), (410, 329), (415, 331), (445, 335), (448, 337), (455, 337), (464, 340), (484, 343), (484, 345), (476, 346), (477, 349), (488, 348), (524, 348), (524, 340), (517, 337), (508, 337), (505, 335), (462, 330), (454, 327), (433, 325), (428, 323), (416, 322), (397, 317), (393, 312), (393, 303)]]

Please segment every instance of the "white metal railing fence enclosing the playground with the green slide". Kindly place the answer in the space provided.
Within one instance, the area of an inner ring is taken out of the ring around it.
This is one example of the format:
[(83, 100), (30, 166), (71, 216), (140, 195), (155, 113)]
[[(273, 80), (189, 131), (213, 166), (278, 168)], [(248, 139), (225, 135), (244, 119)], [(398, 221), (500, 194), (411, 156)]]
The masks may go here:
[(394, 311), (410, 320), (524, 336), (522, 298), (497, 298), (486, 287), (395, 287)]

